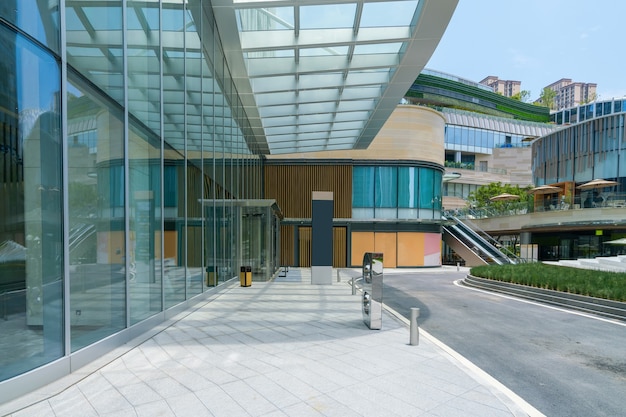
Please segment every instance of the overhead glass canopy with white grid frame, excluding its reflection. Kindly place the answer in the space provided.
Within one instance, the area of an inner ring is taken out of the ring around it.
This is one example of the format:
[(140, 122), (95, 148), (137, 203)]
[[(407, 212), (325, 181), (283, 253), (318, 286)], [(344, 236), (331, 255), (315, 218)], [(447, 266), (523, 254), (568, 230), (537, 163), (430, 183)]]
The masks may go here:
[(235, 88), (261, 142), (255, 148), (367, 148), (435, 51), (457, 3), (213, 0)]

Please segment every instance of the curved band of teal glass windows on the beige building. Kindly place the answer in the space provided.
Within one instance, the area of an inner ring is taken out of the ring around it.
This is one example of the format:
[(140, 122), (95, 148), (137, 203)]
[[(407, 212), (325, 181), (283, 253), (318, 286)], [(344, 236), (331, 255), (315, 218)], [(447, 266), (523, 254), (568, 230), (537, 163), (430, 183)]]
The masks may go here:
[(355, 166), (352, 178), (354, 219), (441, 218), (441, 170)]

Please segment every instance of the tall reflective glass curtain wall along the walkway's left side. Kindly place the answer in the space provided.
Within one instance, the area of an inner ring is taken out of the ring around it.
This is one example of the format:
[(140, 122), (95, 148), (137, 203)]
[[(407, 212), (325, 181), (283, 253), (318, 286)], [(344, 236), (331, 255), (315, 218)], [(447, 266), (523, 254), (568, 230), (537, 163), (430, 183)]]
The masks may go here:
[(211, 16), (200, 1), (0, 4), (0, 381), (162, 316), (240, 262), (276, 267)]

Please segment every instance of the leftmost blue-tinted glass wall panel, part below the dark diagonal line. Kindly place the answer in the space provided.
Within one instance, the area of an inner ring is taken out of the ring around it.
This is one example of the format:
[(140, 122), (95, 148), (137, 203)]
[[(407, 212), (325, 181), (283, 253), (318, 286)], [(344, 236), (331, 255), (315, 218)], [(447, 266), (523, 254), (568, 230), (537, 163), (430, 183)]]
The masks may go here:
[[(3, 6), (6, 6), (3, 4)], [(60, 69), (0, 26), (0, 380), (65, 353)]]

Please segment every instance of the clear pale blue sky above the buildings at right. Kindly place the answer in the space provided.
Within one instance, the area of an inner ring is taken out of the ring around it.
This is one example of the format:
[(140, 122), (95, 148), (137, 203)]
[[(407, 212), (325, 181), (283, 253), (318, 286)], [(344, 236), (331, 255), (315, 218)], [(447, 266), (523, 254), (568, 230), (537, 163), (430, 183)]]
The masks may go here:
[(626, 1), (459, 0), (426, 68), (521, 81), (531, 100), (561, 78), (626, 96)]

